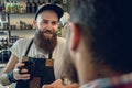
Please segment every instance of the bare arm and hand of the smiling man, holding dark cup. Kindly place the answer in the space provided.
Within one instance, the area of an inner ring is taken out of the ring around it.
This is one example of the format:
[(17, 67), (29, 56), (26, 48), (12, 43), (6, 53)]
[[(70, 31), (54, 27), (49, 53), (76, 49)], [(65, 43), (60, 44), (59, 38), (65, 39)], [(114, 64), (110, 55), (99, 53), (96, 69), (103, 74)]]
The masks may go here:
[(1, 84), (3, 86), (10, 85), (12, 82), (8, 78), (8, 75), (10, 73), (12, 73), (12, 77), (11, 77), (12, 80), (30, 79), (30, 74), (28, 74), (28, 69), (23, 68), (23, 69), (21, 69), (21, 73), (23, 73), (23, 74), (19, 73), (20, 72), (19, 67), (24, 66), (24, 64), (18, 63), (18, 62), (19, 62), (18, 57), (12, 54), (10, 61), (8, 62), (8, 64), (3, 70), (3, 74), (1, 75), (1, 78), (0, 78)]

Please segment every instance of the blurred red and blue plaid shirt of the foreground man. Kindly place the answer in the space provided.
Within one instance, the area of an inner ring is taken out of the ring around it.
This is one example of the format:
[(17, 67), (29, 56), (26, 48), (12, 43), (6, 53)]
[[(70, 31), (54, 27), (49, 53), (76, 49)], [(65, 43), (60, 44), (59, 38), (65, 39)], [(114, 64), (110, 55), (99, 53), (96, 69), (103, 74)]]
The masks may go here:
[(97, 79), (80, 88), (132, 88), (132, 74)]

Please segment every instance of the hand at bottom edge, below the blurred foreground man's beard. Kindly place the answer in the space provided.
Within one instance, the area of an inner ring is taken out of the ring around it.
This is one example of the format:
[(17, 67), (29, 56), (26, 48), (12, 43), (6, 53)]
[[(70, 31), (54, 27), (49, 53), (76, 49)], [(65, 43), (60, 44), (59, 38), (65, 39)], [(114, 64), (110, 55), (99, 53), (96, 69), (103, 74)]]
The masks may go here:
[(61, 79), (54, 81), (51, 85), (44, 85), (42, 88), (78, 88), (78, 84), (72, 84), (72, 85), (63, 85), (63, 81)]

